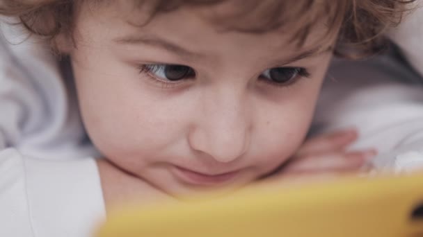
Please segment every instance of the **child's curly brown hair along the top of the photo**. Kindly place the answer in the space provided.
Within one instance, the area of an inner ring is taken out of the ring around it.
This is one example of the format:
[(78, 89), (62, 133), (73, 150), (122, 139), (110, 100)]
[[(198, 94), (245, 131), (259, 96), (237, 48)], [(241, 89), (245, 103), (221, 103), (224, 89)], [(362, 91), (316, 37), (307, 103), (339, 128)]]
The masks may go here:
[[(381, 51), (386, 45), (383, 33), (397, 26), (415, 0), (131, 0), (134, 7), (149, 9), (149, 19), (183, 6), (214, 6), (232, 1), (229, 15), (216, 15), (214, 21), (228, 30), (264, 33), (289, 26), (293, 40), (303, 44), (317, 19), (326, 17), (329, 37), (337, 37), (336, 55), (358, 58)], [(61, 33), (72, 34), (74, 15), (81, 4), (99, 7), (111, 0), (2, 0), (0, 15), (17, 17), (30, 33), (53, 44)], [(116, 2), (116, 1), (114, 1)], [(141, 26), (143, 24), (140, 24)], [(72, 37), (72, 35), (69, 35)], [(72, 37), (73, 38), (73, 37)], [(53, 44), (54, 48), (54, 44)], [(353, 49), (353, 50), (351, 50)]]

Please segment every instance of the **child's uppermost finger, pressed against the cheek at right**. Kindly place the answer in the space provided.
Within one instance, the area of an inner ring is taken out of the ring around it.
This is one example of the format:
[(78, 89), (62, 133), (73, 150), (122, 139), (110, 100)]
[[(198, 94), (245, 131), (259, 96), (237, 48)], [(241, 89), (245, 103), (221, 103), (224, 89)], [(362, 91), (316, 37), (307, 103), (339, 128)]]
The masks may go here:
[(356, 141), (357, 137), (357, 130), (350, 129), (312, 138), (305, 141), (303, 146), (298, 150), (297, 156), (343, 150), (353, 141)]

